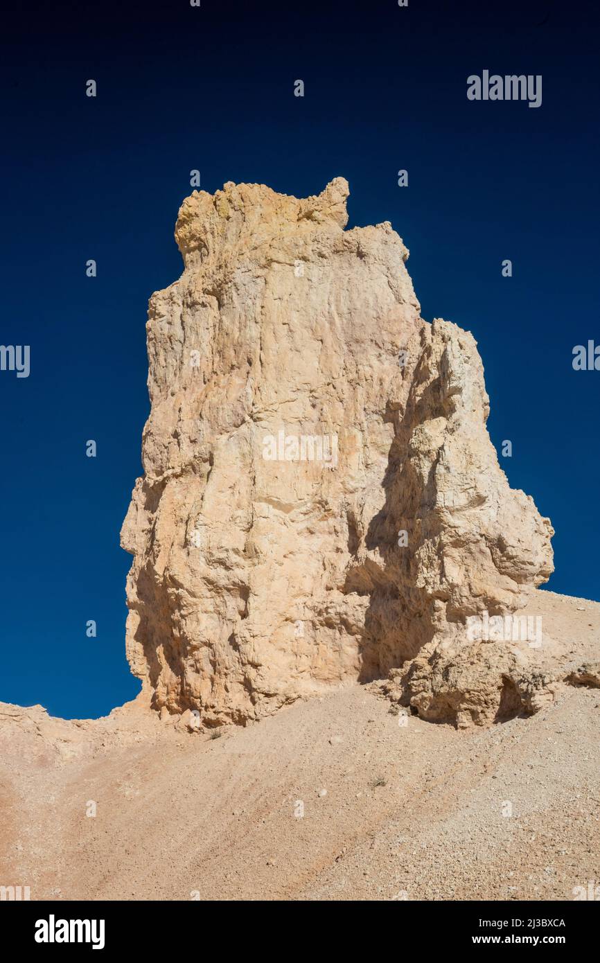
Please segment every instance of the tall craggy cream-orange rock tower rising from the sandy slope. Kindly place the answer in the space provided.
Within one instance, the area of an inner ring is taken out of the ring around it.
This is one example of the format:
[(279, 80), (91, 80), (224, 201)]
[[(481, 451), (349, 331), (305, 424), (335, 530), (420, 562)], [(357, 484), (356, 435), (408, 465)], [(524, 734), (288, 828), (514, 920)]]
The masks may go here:
[(486, 721), (494, 698), (469, 716), (433, 663), (552, 571), (550, 522), (487, 436), (473, 337), (423, 321), (401, 238), (345, 231), (347, 196), (195, 192), (184, 273), (150, 299), (127, 655), (155, 708), (206, 725), (401, 666), (424, 716)]

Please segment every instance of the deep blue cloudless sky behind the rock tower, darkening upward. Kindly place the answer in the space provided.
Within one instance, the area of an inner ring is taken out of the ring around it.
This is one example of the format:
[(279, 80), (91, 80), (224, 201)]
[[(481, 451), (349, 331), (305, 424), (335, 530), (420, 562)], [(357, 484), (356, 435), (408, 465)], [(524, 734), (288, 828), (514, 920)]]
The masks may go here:
[[(343, 175), (350, 226), (392, 221), (424, 317), (479, 342), (503, 467), (557, 530), (549, 587), (600, 599), (600, 372), (571, 366), (600, 343), (593, 5), (19, 6), (3, 19), (0, 342), (31, 346), (31, 375), (0, 372), (0, 699), (98, 716), (138, 691), (118, 532), (141, 474), (146, 303), (181, 273), (191, 169), (211, 192), (299, 196)], [(542, 74), (542, 106), (467, 100), (483, 69)]]

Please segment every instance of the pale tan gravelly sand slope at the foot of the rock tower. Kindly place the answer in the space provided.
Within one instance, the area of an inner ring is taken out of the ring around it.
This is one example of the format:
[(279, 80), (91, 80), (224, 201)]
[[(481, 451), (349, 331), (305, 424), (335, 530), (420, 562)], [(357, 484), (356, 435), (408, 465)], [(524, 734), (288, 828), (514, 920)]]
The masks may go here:
[[(599, 604), (540, 592), (538, 608), (555, 637), (600, 650)], [(466, 732), (402, 727), (389, 708), (353, 686), (210, 740), (135, 704), (83, 723), (0, 706), (0, 885), (32, 899), (560, 900), (600, 882), (600, 690)]]

